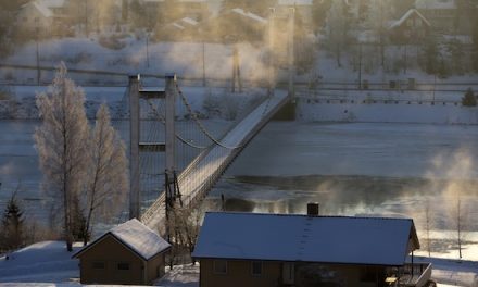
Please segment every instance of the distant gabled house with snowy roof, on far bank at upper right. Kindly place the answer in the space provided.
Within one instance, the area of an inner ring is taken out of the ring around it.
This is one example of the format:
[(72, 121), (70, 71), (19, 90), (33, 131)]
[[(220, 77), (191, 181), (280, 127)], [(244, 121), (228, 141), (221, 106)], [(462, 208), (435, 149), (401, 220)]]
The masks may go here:
[(423, 40), (430, 29), (430, 22), (416, 9), (411, 9), (398, 21), (392, 22), (389, 35), (392, 42), (411, 43)]

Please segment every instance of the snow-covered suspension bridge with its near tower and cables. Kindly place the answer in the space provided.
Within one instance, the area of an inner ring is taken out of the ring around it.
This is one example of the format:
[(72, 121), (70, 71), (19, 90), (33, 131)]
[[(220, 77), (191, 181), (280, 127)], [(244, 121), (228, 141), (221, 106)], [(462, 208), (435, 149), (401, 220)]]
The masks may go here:
[(126, 95), (129, 216), (156, 229), (175, 205), (197, 207), (250, 140), (291, 101), (286, 90), (264, 90), (255, 104), (236, 101), (238, 120), (223, 130), (211, 130), (214, 126), (200, 118), (190, 103), (193, 97), (181, 90), (176, 76), (166, 75), (164, 80), (163, 89), (143, 88), (140, 77), (133, 76)]

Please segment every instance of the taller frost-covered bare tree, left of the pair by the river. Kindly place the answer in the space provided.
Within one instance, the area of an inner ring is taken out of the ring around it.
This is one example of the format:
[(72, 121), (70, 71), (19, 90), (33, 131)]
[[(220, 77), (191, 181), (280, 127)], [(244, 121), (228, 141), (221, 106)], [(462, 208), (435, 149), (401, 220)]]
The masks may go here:
[(60, 64), (48, 92), (37, 96), (42, 124), (35, 130), (36, 149), (43, 187), (54, 196), (63, 210), (63, 236), (72, 251), (75, 202), (85, 183), (89, 135), (85, 113), (85, 93), (66, 77)]

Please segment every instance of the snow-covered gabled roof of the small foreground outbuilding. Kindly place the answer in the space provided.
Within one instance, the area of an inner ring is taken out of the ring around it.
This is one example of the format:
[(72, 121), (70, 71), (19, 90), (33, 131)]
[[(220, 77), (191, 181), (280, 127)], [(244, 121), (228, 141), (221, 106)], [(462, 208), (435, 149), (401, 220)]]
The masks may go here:
[(137, 253), (146, 261), (150, 260), (158, 253), (167, 250), (171, 247), (171, 245), (161, 236), (159, 236), (155, 232), (151, 230), (148, 226), (146, 226), (138, 220), (133, 219), (123, 224), (120, 224), (116, 227), (113, 227), (106, 234), (79, 250), (73, 257), (78, 258), (109, 235), (113, 236), (121, 244), (126, 246), (128, 249)]

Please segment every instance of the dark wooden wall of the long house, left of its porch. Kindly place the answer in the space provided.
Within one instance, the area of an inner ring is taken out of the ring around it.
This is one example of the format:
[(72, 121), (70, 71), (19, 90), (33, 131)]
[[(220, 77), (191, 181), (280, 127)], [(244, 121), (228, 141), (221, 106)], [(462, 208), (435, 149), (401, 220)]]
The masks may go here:
[(227, 273), (214, 272), (214, 260), (200, 260), (200, 287), (276, 287), (281, 280), (280, 262), (263, 262), (262, 275), (252, 275), (251, 261), (227, 261)]

